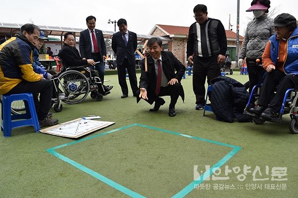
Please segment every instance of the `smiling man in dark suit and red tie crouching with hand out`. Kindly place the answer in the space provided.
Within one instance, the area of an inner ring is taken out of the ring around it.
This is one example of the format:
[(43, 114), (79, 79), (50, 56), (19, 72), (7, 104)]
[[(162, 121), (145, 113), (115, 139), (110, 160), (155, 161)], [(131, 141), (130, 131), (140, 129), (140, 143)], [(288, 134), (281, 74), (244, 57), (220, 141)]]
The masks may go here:
[[(162, 51), (162, 41), (153, 37), (148, 41), (148, 71), (145, 71), (145, 60), (141, 63), (140, 98), (154, 107), (149, 111), (157, 111), (165, 103), (161, 96), (170, 96), (169, 116), (176, 115), (175, 104), (179, 95), (184, 101), (184, 91), (180, 83), (185, 66), (170, 51)], [(176, 73), (175, 73), (176, 70)], [(137, 99), (139, 102), (140, 98)]]

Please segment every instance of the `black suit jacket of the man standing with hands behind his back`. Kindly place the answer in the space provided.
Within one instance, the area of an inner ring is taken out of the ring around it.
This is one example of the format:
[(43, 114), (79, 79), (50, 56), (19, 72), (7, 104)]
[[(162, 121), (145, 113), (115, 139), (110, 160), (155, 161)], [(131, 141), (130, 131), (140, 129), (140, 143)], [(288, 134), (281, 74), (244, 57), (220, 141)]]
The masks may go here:
[(117, 65), (122, 65), (124, 57), (127, 56), (128, 64), (135, 65), (135, 51), (137, 49), (137, 34), (128, 31), (128, 41), (125, 47), (121, 32), (116, 32), (112, 37), (112, 49), (115, 52), (117, 58)]

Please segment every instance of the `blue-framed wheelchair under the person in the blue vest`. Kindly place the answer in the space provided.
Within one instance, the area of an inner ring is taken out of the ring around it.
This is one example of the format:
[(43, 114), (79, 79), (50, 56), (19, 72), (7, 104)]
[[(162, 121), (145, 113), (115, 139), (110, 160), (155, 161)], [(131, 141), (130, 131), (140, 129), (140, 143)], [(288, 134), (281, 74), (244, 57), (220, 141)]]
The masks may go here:
[(260, 92), (261, 92), (261, 85), (255, 85), (251, 91), (249, 100), (248, 100), (246, 107), (244, 109), (244, 114), (250, 115), (252, 117), (252, 121), (255, 124), (263, 124), (265, 121), (281, 123), (282, 116), (285, 114), (291, 113), (290, 114), (291, 122), (290, 122), (289, 129), (290, 129), (291, 133), (298, 134), (298, 115), (297, 115), (298, 90), (288, 89), (286, 91), (284, 99), (283, 99), (283, 104), (282, 104), (282, 107), (279, 112), (279, 116), (276, 118), (272, 118), (271, 120), (264, 120), (263, 118), (259, 117), (259, 115), (248, 112), (248, 110), (252, 106), (254, 106), (254, 103), (251, 102), (253, 99), (256, 99), (256, 102), (255, 102), (256, 104), (258, 103), (258, 98), (260, 96)]

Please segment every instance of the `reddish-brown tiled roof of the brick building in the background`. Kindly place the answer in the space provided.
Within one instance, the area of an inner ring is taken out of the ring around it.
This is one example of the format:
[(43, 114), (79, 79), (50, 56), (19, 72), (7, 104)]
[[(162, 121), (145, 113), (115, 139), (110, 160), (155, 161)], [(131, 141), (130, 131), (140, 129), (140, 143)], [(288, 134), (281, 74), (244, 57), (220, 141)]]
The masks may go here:
[[(168, 35), (188, 35), (189, 27), (160, 25), (160, 24), (156, 24), (156, 26), (159, 26), (163, 31), (167, 32)], [(233, 31), (225, 30), (225, 34), (226, 34), (226, 38), (236, 39), (236, 33), (234, 33)], [(165, 36), (165, 35), (160, 35), (160, 36)], [(239, 39), (242, 40), (244, 39), (244, 37), (239, 35)]]

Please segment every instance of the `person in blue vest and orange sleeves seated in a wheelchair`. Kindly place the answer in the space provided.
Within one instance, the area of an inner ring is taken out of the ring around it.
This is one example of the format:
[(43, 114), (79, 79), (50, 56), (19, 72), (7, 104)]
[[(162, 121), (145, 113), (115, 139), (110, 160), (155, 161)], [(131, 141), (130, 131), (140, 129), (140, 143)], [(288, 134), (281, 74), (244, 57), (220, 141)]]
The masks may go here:
[[(268, 73), (258, 106), (248, 110), (265, 120), (278, 117), (286, 91), (298, 88), (297, 20), (291, 14), (282, 13), (274, 19), (273, 26), (275, 34), (270, 37), (262, 55), (263, 67)], [(276, 85), (279, 87), (270, 101)]]

